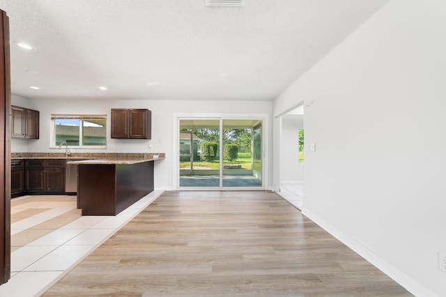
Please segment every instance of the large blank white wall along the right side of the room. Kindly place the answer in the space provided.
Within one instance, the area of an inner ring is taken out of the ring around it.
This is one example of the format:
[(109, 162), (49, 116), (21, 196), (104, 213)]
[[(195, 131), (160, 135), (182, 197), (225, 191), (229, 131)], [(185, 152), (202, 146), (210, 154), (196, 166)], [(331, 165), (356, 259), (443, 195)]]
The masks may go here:
[(274, 102), (313, 102), (304, 214), (417, 296), (446, 296), (445, 15), (390, 1)]

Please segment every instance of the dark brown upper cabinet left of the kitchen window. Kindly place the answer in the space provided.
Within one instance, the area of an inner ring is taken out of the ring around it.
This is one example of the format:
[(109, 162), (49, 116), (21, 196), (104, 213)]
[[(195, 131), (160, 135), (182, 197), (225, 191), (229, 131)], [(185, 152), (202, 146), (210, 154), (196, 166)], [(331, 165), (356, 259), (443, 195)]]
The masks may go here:
[(40, 113), (33, 109), (11, 106), (11, 137), (38, 139), (39, 115)]

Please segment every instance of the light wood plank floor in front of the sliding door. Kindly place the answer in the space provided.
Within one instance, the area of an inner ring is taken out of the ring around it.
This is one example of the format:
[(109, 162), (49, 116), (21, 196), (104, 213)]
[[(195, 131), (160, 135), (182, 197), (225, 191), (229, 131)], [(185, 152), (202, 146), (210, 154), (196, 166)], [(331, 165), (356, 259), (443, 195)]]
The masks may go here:
[(268, 191), (170, 191), (43, 296), (412, 296)]

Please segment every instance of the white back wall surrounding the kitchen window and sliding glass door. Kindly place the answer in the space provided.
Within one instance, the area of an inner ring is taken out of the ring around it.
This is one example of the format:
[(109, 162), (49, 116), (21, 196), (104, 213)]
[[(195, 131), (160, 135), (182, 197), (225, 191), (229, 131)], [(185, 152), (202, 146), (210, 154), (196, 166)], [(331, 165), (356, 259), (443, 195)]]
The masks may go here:
[[(15, 100), (13, 99), (13, 104)], [(265, 113), (272, 114), (272, 102), (208, 102), (208, 101), (169, 101), (169, 100), (57, 100), (57, 99), (29, 99), (33, 109), (40, 111), (40, 139), (28, 141), (28, 152), (58, 152), (49, 148), (50, 145), (50, 116), (52, 113), (67, 114), (106, 114), (107, 123), (110, 124), (110, 109), (132, 108), (150, 109), (152, 111), (152, 139), (112, 139), (110, 129), (107, 129), (107, 150), (76, 150), (72, 152), (165, 152), (166, 159), (155, 161), (155, 188), (171, 189), (174, 172), (173, 152), (174, 140), (174, 113)], [(26, 106), (24, 106), (26, 107)], [(271, 123), (271, 121), (268, 121)], [(272, 124), (268, 131), (271, 133)], [(22, 141), (22, 140), (20, 140)], [(148, 145), (152, 145), (151, 149)], [(272, 141), (268, 143), (268, 147)], [(115, 147), (112, 150), (112, 147)], [(13, 150), (13, 152), (15, 152)], [(271, 152), (268, 152), (271, 154)], [(271, 155), (272, 156), (272, 155)], [(270, 156), (269, 160), (272, 160)], [(270, 164), (268, 164), (271, 167)], [(269, 173), (272, 180), (272, 172)], [(270, 182), (271, 184), (272, 182)], [(271, 185), (268, 185), (270, 187)]]

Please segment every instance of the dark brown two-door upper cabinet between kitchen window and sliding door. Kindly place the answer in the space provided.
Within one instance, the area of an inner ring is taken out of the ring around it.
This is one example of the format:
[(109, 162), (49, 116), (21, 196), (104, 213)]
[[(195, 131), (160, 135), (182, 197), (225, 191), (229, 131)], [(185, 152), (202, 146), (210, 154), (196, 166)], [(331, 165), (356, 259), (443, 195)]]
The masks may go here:
[(148, 109), (112, 109), (112, 138), (151, 139), (152, 112)]

